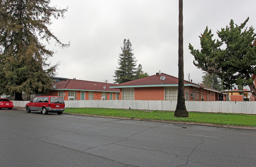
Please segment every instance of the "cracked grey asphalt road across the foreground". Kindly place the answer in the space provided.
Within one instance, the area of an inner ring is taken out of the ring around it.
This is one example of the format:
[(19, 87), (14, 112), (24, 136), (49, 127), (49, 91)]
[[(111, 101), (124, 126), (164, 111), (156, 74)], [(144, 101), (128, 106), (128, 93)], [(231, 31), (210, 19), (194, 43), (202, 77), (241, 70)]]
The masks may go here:
[(0, 167), (255, 167), (256, 131), (0, 110)]

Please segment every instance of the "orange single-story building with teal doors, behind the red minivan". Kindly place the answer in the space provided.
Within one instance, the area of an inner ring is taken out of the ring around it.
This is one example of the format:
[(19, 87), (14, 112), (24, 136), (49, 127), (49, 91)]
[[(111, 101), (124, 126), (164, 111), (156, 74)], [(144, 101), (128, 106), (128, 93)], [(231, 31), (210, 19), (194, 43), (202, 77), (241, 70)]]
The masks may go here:
[(64, 100), (118, 100), (119, 89), (109, 88), (114, 85), (74, 78), (53, 83), (50, 91), (44, 95), (60, 96)]

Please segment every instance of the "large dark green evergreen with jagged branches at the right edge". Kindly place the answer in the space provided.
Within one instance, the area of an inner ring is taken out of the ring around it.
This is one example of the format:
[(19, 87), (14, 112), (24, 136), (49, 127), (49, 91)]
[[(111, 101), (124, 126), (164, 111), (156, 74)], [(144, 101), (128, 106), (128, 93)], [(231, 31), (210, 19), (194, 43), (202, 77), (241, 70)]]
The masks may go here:
[(189, 50), (195, 57), (195, 66), (223, 79), (225, 89), (232, 89), (234, 84), (248, 85), (256, 98), (256, 87), (251, 79), (256, 74), (256, 34), (254, 28), (245, 28), (248, 20), (249, 17), (240, 26), (231, 20), (229, 26), (217, 31), (221, 41), (213, 40), (211, 30), (206, 27), (199, 37), (202, 49), (195, 50), (189, 44)]

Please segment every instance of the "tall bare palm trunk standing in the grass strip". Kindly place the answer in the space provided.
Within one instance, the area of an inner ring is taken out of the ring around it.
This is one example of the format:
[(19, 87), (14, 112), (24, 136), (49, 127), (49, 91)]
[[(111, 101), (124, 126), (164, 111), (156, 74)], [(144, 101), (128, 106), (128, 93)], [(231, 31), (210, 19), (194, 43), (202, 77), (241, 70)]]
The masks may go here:
[(184, 61), (183, 61), (183, 0), (179, 0), (179, 48), (178, 48), (178, 98), (174, 112), (175, 117), (188, 117), (184, 95)]

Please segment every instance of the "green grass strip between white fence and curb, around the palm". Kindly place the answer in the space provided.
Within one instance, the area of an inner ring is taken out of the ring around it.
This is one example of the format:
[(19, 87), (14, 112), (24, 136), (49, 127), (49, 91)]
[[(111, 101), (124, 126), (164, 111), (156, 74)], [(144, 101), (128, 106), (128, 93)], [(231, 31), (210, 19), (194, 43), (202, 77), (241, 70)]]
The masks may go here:
[(189, 117), (174, 117), (174, 112), (121, 110), (109, 108), (66, 108), (67, 113), (92, 114), (100, 116), (116, 116), (141, 119), (157, 119), (167, 121), (184, 121), (197, 123), (213, 123), (218, 125), (239, 125), (256, 127), (256, 115), (189, 112)]

